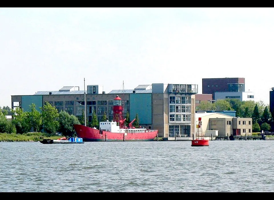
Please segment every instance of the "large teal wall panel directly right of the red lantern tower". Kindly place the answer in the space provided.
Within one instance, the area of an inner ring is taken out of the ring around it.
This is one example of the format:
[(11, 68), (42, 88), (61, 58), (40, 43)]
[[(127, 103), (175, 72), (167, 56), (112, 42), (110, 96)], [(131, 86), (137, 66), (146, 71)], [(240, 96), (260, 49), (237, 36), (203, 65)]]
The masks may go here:
[(138, 114), (139, 124), (152, 124), (152, 93), (132, 93), (129, 99), (130, 121)]

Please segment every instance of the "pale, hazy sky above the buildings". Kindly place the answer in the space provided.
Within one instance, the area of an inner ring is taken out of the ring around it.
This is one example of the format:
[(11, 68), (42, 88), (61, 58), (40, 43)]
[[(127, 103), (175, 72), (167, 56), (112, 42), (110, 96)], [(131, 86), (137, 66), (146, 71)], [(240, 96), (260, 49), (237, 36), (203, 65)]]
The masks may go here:
[(63, 86), (134, 89), (244, 77), (274, 87), (273, 8), (0, 8), (0, 106)]

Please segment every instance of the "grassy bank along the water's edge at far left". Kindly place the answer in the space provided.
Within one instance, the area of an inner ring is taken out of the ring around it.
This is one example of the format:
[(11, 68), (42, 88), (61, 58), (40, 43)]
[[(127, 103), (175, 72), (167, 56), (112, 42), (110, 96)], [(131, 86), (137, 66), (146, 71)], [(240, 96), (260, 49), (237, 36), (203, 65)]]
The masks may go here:
[(45, 133), (33, 132), (33, 133), (24, 133), (24, 134), (16, 134), (16, 133), (0, 133), (0, 141), (1, 142), (28, 142), (28, 141), (42, 141), (43, 139), (58, 139), (60, 135), (47, 137)]

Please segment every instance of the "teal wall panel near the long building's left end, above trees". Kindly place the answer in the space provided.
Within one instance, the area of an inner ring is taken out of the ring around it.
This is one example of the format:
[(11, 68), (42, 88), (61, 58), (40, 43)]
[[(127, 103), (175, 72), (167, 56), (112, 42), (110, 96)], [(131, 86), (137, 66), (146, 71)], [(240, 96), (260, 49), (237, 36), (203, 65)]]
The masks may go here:
[(29, 106), (34, 103), (36, 110), (41, 112), (40, 107), (43, 106), (43, 96), (42, 95), (26, 95), (22, 96), (22, 109), (24, 111), (31, 111)]

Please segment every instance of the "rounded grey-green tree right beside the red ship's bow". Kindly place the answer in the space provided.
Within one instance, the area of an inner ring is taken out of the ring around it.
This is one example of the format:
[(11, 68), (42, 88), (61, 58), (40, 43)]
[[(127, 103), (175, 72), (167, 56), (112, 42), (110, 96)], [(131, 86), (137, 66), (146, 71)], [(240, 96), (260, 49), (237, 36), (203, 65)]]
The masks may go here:
[(74, 124), (80, 124), (77, 117), (68, 114), (66, 111), (60, 111), (58, 116), (59, 132), (65, 136), (72, 137), (76, 134)]

